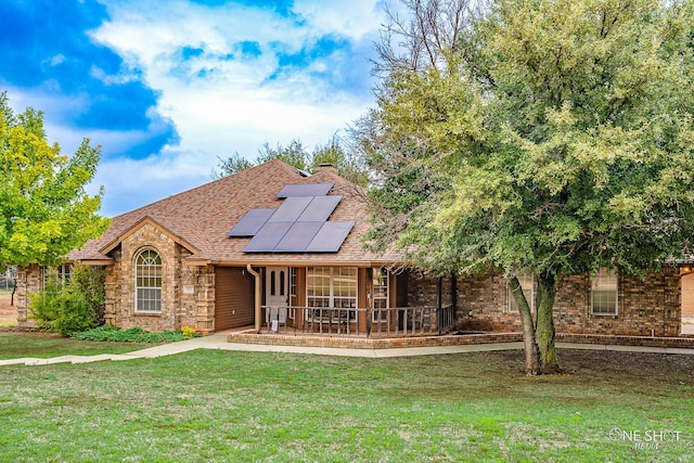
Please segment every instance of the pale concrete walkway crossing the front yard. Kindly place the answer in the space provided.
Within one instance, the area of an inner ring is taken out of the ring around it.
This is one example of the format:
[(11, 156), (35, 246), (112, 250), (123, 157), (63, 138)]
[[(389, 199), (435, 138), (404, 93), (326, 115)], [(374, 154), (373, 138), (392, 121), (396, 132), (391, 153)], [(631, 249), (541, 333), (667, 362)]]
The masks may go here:
[[(618, 350), (627, 352), (655, 352), (655, 353), (684, 353), (694, 355), (694, 349), (678, 349), (667, 347), (639, 347), (639, 346), (609, 346), (594, 344), (556, 343), (557, 348), (568, 349), (591, 349), (591, 350)], [(152, 359), (155, 357), (171, 356), (195, 349), (219, 349), (219, 350), (243, 350), (255, 352), (290, 352), (290, 353), (311, 353), (319, 356), (340, 356), (340, 357), (365, 357), (365, 358), (389, 358), (389, 357), (413, 357), (434, 356), (441, 353), (465, 353), (481, 352), (491, 350), (522, 349), (523, 343), (493, 343), (475, 344), (465, 346), (439, 346), (439, 347), (404, 347), (398, 349), (345, 349), (330, 347), (299, 347), (299, 346), (274, 346), (262, 344), (237, 344), (228, 343), (226, 334), (213, 334), (205, 337), (181, 340), (179, 343), (163, 344), (147, 349), (136, 350), (133, 352), (112, 355), (101, 353), (98, 356), (62, 356), (49, 359), (10, 359), (0, 360), (2, 365), (49, 365), (54, 363), (89, 363), (103, 360), (132, 360)]]

